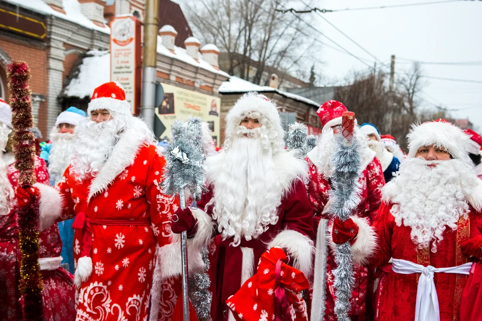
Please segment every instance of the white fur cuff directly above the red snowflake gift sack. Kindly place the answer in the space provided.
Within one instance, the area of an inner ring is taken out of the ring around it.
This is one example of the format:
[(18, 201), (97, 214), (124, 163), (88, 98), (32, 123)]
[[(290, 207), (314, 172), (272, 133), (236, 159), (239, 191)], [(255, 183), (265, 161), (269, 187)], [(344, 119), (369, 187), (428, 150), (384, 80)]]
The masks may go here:
[(310, 238), (294, 230), (284, 230), (269, 243), (268, 249), (275, 246), (288, 251), (294, 268), (303, 272), (307, 278), (311, 276), (311, 256), (315, 249)]

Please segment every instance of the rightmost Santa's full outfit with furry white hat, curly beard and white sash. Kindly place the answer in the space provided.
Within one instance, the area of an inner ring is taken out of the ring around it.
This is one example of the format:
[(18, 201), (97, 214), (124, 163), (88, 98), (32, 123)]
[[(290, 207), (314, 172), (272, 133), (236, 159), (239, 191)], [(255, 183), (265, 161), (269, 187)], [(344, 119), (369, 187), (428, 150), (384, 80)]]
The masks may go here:
[[(470, 138), (437, 120), (414, 125), (408, 140), (407, 159), (382, 190), (377, 221), (372, 227), (356, 222), (355, 242), (373, 250), (359, 258), (381, 266), (393, 257), (380, 321), (460, 320), (470, 258), (480, 259), (482, 245), (482, 182), (467, 156)], [(450, 159), (416, 158), (427, 146)], [(344, 230), (339, 223), (334, 233)]]

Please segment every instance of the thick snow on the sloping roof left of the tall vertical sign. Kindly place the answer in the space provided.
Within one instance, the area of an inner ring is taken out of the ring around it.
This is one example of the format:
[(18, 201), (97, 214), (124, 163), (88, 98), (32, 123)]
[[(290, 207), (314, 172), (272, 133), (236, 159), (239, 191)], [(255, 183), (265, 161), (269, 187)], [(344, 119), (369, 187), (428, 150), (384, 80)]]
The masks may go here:
[[(82, 59), (79, 74), (65, 87), (67, 97), (90, 97), (94, 89), (110, 81), (110, 54), (108, 51), (91, 50)], [(89, 57), (90, 56), (90, 57)]]

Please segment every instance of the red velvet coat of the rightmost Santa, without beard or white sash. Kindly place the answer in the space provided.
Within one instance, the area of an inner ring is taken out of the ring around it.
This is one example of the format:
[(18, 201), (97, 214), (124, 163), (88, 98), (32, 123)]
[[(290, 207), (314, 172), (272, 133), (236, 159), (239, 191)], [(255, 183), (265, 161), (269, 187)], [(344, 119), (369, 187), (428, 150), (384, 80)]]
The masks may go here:
[[(443, 240), (437, 244), (437, 252), (433, 253), (429, 249), (417, 248), (410, 237), (411, 227), (397, 226), (390, 212), (392, 206), (393, 204), (384, 202), (379, 209), (377, 221), (373, 224), (378, 249), (369, 259), (370, 266), (382, 266), (393, 257), (435, 268), (452, 267), (467, 263), (466, 255), (471, 256), (471, 251), (475, 253), (477, 250), (469, 249), (462, 253), (460, 248), (462, 242), (482, 234), (482, 214), (472, 207), (468, 219), (461, 217), (458, 220), (456, 231), (445, 230)], [(419, 277), (420, 273), (399, 274), (389, 271), (380, 298), (380, 321), (414, 319)], [(466, 282), (467, 275), (434, 274), (441, 321), (460, 319), (460, 303)]]

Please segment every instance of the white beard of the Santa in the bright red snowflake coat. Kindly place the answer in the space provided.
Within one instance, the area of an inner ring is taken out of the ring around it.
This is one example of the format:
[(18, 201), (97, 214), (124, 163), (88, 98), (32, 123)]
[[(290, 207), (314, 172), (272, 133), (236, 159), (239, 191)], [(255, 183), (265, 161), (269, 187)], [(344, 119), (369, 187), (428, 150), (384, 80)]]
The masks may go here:
[(70, 173), (75, 175), (79, 182), (99, 173), (126, 125), (127, 121), (122, 117), (100, 123), (88, 118), (80, 122), (75, 155), (70, 168)]

